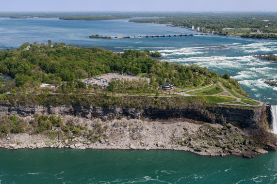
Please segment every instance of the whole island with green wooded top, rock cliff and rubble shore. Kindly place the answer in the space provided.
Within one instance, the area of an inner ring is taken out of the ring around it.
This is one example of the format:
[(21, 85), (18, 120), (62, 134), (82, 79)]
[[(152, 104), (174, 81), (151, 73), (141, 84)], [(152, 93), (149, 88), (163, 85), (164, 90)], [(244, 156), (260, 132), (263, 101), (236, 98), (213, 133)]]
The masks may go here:
[[(153, 60), (147, 50), (113, 53), (63, 43), (26, 43), (0, 56), (0, 73), (14, 77), (0, 87), (2, 148), (168, 149), (246, 158), (276, 151), (270, 105), (249, 98), (228, 74)], [(109, 72), (117, 74), (106, 79)], [(166, 82), (174, 87), (163, 91)]]

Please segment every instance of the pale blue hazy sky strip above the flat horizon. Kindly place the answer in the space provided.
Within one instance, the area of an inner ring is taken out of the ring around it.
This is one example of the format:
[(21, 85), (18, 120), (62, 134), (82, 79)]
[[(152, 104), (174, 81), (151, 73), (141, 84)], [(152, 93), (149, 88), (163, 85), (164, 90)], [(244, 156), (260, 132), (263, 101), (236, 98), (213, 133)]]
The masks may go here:
[(0, 12), (277, 12), (277, 0), (1, 0)]

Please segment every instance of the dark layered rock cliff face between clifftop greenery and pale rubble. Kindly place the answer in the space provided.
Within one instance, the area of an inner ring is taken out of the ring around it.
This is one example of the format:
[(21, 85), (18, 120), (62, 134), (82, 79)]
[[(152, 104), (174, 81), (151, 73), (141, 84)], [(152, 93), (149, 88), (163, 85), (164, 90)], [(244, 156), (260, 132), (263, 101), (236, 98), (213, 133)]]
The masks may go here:
[(32, 116), (34, 114), (74, 115), (83, 118), (103, 118), (113, 113), (117, 118), (170, 119), (188, 118), (207, 123), (233, 123), (241, 126), (259, 126), (266, 121), (266, 107), (239, 109), (228, 107), (210, 107), (206, 109), (151, 109), (151, 108), (108, 108), (83, 106), (11, 106), (0, 104), (0, 114)]

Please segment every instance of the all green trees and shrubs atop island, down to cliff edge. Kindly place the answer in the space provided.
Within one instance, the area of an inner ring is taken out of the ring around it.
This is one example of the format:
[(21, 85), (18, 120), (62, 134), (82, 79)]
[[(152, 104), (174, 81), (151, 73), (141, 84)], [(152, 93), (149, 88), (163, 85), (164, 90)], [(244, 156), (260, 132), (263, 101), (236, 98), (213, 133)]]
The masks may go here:
[[(158, 51), (125, 50), (118, 53), (100, 47), (67, 46), (57, 42), (52, 44), (50, 40), (48, 43), (24, 43), (18, 49), (0, 52), (0, 75), (14, 78), (5, 81), (5, 85), (0, 85), (0, 103), (196, 108), (233, 99), (220, 96), (182, 97), (178, 94), (179, 89), (211, 88), (212, 82), (216, 83), (218, 80), (225, 87), (248, 96), (238, 81), (230, 78), (228, 74), (220, 75), (220, 78), (217, 73), (198, 65), (182, 65), (153, 59), (151, 55), (160, 57)], [(111, 80), (109, 85), (105, 86), (87, 86), (84, 80), (81, 80), (110, 72), (147, 77), (149, 82), (122, 78)], [(173, 83), (178, 88), (171, 91), (171, 94), (162, 92), (159, 86), (166, 82)], [(40, 88), (41, 83), (52, 84), (56, 88)], [(211, 94), (218, 92), (222, 92), (219, 87), (210, 91)], [(168, 96), (173, 94), (174, 96)]]

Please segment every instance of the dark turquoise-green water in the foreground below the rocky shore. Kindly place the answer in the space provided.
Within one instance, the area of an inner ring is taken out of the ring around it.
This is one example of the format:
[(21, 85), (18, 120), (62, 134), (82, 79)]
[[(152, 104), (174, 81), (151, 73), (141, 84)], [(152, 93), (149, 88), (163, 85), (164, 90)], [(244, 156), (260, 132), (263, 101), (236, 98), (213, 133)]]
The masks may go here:
[(277, 152), (255, 159), (179, 151), (0, 149), (1, 184), (275, 184)]

